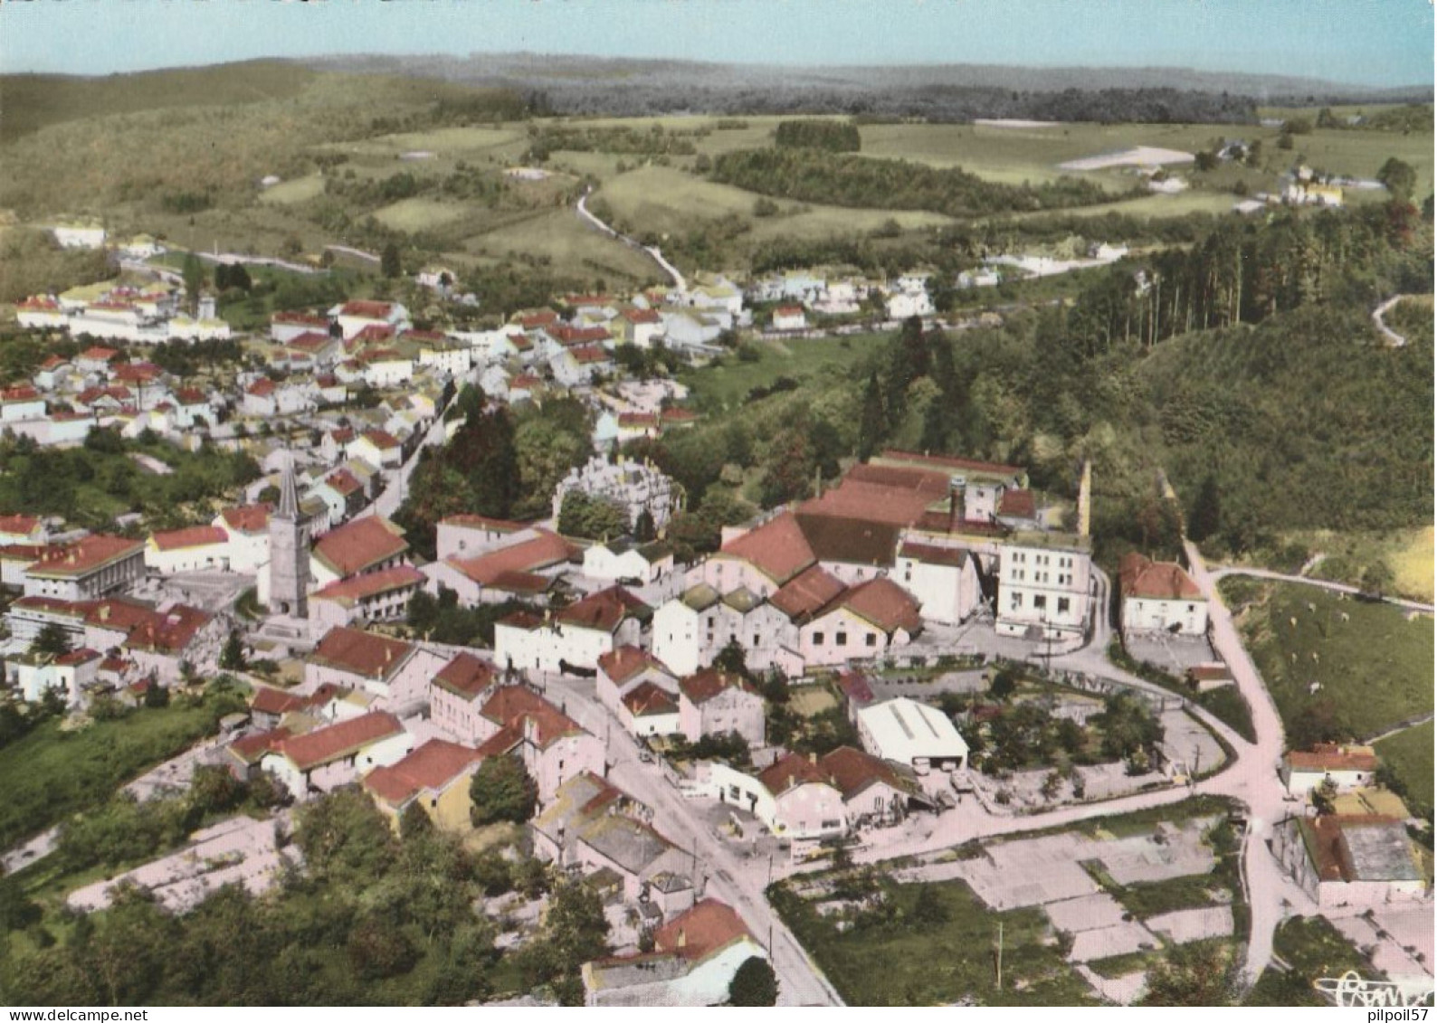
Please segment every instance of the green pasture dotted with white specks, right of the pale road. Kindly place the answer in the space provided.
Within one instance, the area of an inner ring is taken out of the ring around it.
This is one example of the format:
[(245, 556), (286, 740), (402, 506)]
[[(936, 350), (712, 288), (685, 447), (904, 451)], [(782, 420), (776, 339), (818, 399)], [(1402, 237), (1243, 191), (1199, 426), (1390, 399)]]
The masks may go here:
[(1408, 621), (1392, 605), (1300, 583), (1229, 582), (1224, 598), (1250, 601), (1230, 605), (1242, 608), (1244, 642), (1289, 728), (1303, 711), (1331, 707), (1339, 730), (1361, 739), (1433, 708), (1430, 615)]

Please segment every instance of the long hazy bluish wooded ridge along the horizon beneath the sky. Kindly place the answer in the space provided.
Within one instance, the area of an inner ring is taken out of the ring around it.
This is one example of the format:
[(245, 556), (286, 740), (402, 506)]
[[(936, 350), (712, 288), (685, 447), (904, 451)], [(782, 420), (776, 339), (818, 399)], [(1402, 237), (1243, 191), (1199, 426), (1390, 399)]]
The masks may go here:
[(1428, 102), (1430, 85), (1371, 89), (1190, 68), (894, 65), (783, 68), (489, 53), (323, 57), (315, 68), (415, 75), (542, 95), (555, 114), (865, 114), (971, 121), (1249, 122), (1255, 102)]

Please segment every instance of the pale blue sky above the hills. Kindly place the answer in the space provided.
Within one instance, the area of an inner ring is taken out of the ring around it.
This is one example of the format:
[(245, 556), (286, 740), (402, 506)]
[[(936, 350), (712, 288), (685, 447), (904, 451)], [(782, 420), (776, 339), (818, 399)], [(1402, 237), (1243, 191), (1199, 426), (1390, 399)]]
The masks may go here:
[(0, 69), (260, 56), (586, 53), (737, 63), (1183, 66), (1433, 82), (1428, 0), (32, 0)]

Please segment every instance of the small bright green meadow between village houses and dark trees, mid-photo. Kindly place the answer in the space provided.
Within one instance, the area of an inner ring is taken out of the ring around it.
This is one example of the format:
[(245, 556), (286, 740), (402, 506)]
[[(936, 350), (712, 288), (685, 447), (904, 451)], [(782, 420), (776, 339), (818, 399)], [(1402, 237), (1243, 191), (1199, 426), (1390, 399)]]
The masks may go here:
[(690, 388), (694, 404), (706, 411), (737, 407), (756, 386), (769, 386), (779, 376), (796, 381), (821, 374), (845, 374), (888, 343), (890, 335), (855, 333), (846, 338), (805, 338), (753, 342), (759, 358), (744, 362), (726, 355), (721, 365), (685, 369), (680, 379)]

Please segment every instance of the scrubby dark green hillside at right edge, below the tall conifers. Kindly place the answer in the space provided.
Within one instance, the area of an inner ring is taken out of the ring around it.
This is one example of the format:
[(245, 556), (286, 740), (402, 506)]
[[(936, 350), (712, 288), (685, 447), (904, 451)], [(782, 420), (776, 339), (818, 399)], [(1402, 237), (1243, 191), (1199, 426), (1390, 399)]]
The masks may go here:
[(1188, 503), (1217, 481), (1232, 547), (1431, 520), (1430, 332), (1381, 348), (1364, 309), (1308, 306), (1174, 338), (1138, 379), (1168, 476)]

